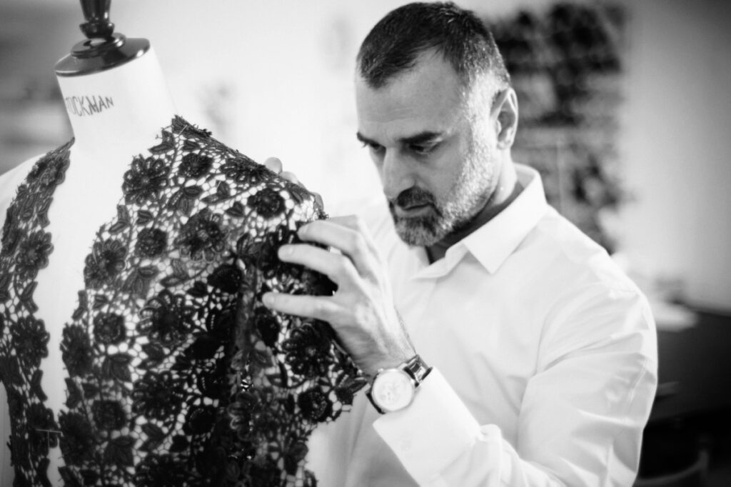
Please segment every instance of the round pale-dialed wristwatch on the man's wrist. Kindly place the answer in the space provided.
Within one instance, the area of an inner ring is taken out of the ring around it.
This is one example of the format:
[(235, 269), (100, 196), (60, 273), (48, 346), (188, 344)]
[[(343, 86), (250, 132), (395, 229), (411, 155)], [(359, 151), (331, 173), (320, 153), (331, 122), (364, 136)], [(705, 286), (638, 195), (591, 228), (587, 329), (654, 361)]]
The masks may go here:
[(379, 369), (366, 396), (381, 414), (404, 409), (412, 403), (416, 390), (431, 372), (419, 355), (393, 369)]

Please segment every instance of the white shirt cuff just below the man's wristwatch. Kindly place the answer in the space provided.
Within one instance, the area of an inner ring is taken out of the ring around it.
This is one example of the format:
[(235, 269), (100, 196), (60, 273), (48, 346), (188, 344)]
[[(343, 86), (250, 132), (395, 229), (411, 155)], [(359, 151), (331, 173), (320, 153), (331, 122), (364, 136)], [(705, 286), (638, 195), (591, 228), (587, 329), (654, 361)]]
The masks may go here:
[(436, 369), (409, 407), (382, 415), (373, 426), (418, 483), (436, 480), (480, 436), (477, 420)]

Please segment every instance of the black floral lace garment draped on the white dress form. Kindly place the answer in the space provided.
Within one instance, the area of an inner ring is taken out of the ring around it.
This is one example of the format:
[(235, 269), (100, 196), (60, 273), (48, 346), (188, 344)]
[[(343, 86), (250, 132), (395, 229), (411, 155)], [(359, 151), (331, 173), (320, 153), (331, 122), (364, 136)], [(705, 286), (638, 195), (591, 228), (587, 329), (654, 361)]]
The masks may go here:
[(365, 380), (326, 323), (270, 312), (261, 296), (333, 291), (276, 257), (325, 215), (311, 193), (182, 118), (157, 142), (132, 160), (124, 201), (83, 263), (58, 415), (41, 388), (48, 333), (33, 291), (53, 258), (43, 229), (71, 143), (37, 162), (7, 211), (0, 378), (15, 485), (50, 485), (58, 442), (67, 486), (314, 486), (308, 436)]

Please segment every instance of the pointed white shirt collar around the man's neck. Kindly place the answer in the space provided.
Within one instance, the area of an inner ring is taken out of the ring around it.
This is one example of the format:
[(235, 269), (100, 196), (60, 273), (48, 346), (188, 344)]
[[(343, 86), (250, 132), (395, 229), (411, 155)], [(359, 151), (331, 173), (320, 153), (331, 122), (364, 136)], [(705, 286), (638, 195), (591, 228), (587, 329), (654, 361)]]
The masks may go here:
[[(548, 209), (543, 184), (531, 167), (515, 164), (523, 191), (503, 211), (447, 249), (444, 258), (428, 265), (419, 277), (443, 276), (469, 252), (489, 273), (495, 273), (515, 252)], [(423, 249), (422, 249), (423, 250)]]

